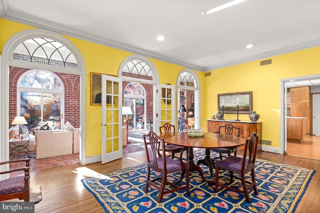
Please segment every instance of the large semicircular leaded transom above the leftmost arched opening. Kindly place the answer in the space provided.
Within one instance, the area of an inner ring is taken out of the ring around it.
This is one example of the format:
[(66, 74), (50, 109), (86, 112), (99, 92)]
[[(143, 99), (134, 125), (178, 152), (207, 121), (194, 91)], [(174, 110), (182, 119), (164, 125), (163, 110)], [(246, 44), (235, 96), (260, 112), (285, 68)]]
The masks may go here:
[(78, 68), (73, 53), (66, 46), (44, 37), (30, 38), (17, 45), (13, 51), (12, 59)]

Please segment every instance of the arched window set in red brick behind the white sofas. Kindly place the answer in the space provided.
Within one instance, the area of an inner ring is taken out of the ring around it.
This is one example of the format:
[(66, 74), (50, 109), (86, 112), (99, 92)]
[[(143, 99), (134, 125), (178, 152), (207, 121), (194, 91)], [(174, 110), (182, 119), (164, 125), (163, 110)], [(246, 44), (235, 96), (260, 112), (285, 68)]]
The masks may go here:
[(18, 80), (17, 110), (32, 131), (47, 123), (51, 129), (60, 129), (64, 114), (64, 87), (54, 73), (32, 69)]

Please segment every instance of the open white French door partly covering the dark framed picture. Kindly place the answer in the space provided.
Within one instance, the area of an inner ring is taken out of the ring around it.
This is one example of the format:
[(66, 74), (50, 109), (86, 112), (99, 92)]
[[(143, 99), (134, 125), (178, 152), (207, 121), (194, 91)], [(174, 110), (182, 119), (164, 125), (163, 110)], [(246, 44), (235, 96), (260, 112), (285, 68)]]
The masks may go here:
[(102, 154), (106, 163), (122, 157), (122, 80), (102, 74)]

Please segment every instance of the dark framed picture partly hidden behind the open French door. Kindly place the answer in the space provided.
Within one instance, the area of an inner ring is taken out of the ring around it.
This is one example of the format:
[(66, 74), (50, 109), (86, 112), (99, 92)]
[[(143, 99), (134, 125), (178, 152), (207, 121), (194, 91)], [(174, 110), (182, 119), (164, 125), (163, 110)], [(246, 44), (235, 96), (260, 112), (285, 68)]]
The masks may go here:
[[(111, 75), (115, 76), (115, 75)], [(90, 72), (90, 104), (101, 105), (101, 85), (102, 85), (102, 74), (96, 72)], [(106, 82), (106, 87), (111, 88), (111, 81)], [(106, 93), (108, 90), (106, 89)], [(114, 101), (115, 102), (115, 101)], [(111, 96), (106, 96), (106, 103), (111, 104)]]

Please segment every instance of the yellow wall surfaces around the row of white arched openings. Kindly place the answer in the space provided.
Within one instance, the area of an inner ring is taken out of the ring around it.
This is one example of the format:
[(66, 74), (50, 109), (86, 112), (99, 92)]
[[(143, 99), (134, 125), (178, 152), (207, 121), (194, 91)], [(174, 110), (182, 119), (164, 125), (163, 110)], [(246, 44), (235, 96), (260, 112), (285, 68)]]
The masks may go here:
[[(34, 28), (24, 24), (0, 18), (0, 49), (2, 51), (6, 40), (15, 33)], [(92, 43), (78, 38), (65, 36), (80, 51), (84, 59), (86, 68), (86, 153), (85, 156), (95, 156), (101, 154), (101, 106), (90, 105), (90, 72), (117, 75), (121, 62), (132, 53), (111, 48), (108, 46)], [(1, 53), (2, 54), (2, 53)], [(179, 72), (185, 68), (179, 65), (148, 58), (158, 71), (159, 83), (172, 85), (176, 84)], [(202, 75), (203, 73), (196, 71)], [(201, 77), (200, 77), (201, 78)]]

